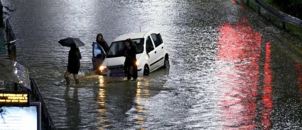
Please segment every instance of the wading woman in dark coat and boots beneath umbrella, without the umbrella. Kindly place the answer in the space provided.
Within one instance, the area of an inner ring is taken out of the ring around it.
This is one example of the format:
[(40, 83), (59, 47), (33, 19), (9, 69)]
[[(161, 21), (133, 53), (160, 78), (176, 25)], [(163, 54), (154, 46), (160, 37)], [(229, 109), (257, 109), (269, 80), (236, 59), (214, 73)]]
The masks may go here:
[(68, 53), (68, 65), (67, 65), (67, 71), (64, 74), (64, 77), (66, 79), (67, 84), (70, 84), (69, 75), (72, 73), (73, 78), (76, 80), (76, 84), (79, 84), (80, 81), (78, 79), (78, 73), (80, 69), (80, 59), (82, 59), (81, 53), (79, 48), (70, 47), (69, 53)]

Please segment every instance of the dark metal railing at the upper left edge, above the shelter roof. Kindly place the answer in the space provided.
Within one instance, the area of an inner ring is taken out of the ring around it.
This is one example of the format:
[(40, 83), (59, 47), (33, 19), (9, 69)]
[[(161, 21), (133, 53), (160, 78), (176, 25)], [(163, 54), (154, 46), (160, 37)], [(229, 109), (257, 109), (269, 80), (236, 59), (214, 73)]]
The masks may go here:
[(17, 60), (16, 54), (16, 35), (14, 34), (13, 29), (11, 28), (11, 24), (9, 23), (8, 19), (6, 19), (6, 42), (7, 42), (7, 50), (8, 55), (14, 57), (14, 60)]

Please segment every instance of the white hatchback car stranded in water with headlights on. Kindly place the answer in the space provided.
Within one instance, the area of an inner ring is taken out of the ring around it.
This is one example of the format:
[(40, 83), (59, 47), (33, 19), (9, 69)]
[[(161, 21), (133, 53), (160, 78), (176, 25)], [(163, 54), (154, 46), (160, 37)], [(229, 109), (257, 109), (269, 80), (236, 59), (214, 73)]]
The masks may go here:
[[(137, 75), (149, 75), (149, 73), (164, 67), (168, 68), (169, 55), (162, 42), (162, 37), (156, 31), (135, 32), (124, 34), (114, 39), (107, 54), (103, 48), (93, 43), (93, 68), (99, 74), (107, 76), (124, 76), (125, 57), (123, 48), (125, 40), (131, 38), (137, 45)], [(105, 56), (106, 55), (106, 56)]]

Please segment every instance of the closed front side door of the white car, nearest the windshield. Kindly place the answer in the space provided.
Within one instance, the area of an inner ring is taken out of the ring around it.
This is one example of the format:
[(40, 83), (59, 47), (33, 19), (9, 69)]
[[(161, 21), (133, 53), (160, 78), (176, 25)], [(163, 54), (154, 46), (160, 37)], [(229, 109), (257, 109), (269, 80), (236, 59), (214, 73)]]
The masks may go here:
[(154, 44), (153, 44), (150, 36), (148, 36), (146, 38), (146, 52), (149, 57), (149, 65), (150, 65), (149, 70), (151, 71), (151, 70), (155, 69), (155, 66), (153, 63), (155, 63), (156, 57), (155, 57)]

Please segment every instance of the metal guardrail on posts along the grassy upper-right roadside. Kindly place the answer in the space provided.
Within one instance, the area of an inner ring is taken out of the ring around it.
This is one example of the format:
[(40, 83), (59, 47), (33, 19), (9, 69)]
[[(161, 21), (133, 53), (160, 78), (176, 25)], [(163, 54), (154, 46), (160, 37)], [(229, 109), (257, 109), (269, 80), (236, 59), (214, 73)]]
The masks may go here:
[[(257, 12), (261, 14), (261, 8), (265, 9), (270, 15), (269, 15), (269, 21), (271, 21), (271, 15), (275, 16), (276, 18), (280, 19), (282, 21), (282, 27), (283, 29), (286, 28), (285, 22), (289, 24), (293, 24), (297, 27), (300, 27), (302, 29), (302, 20), (299, 18), (296, 18), (294, 16), (288, 15), (286, 13), (283, 13), (276, 8), (272, 7), (271, 5), (266, 4), (263, 2), (263, 0), (252, 0), (258, 5)], [(249, 6), (249, 0), (246, 0), (246, 5)]]

